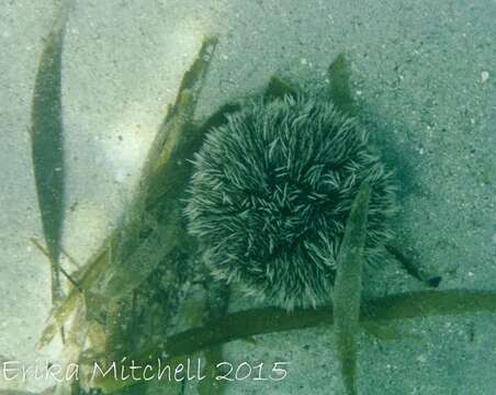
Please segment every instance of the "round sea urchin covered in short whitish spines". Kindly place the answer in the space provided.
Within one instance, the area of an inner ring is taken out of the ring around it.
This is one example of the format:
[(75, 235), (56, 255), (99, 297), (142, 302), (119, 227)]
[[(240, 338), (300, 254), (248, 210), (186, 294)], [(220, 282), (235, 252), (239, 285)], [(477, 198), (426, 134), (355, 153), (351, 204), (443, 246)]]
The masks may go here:
[(284, 308), (331, 295), (351, 203), (372, 188), (365, 255), (390, 238), (394, 185), (369, 135), (313, 95), (245, 105), (196, 154), (187, 207), (214, 276)]

